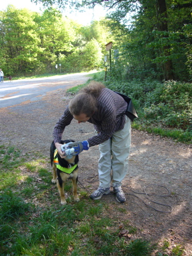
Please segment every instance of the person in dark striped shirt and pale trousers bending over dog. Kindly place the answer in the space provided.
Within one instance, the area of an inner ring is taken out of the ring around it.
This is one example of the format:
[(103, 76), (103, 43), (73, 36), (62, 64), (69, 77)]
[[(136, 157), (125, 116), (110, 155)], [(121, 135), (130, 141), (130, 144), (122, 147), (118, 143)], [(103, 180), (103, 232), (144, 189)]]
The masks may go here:
[(78, 123), (90, 122), (97, 135), (86, 141), (70, 143), (79, 154), (83, 150), (99, 145), (99, 188), (90, 195), (93, 200), (110, 193), (111, 182), (116, 200), (124, 203), (122, 180), (128, 170), (128, 157), (131, 146), (131, 120), (125, 115), (127, 102), (117, 93), (92, 81), (70, 100), (64, 114), (54, 127), (54, 143), (61, 157), (61, 136), (73, 118)]

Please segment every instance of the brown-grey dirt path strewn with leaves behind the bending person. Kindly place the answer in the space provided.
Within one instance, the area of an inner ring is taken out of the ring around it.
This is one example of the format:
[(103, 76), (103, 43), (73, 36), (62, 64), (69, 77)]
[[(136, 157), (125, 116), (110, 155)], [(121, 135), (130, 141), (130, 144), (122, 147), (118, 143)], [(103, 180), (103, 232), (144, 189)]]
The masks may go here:
[[(41, 100), (24, 102), (12, 108), (1, 108), (0, 144), (14, 145), (23, 153), (41, 152), (47, 157), (49, 164), (52, 131), (70, 100), (70, 96), (65, 92), (66, 90), (56, 90), (47, 93)], [(64, 139), (74, 140), (85, 140), (90, 136), (93, 136), (93, 125), (77, 124), (76, 121), (73, 121), (63, 134)], [(98, 186), (98, 158), (97, 146), (81, 153), (80, 156), (79, 181), (90, 193)], [(172, 248), (180, 244), (185, 247), (183, 255), (191, 256), (191, 169), (189, 145), (134, 130), (129, 175), (124, 180), (124, 191), (127, 193), (127, 201), (123, 204), (125, 211), (114, 211), (114, 206), (118, 207), (118, 203), (113, 193), (103, 196), (101, 200), (108, 202), (111, 216), (114, 214), (114, 219), (118, 223), (129, 220), (130, 225), (137, 228), (136, 238), (151, 239), (161, 245), (168, 241), (168, 255), (171, 255)], [(146, 189), (147, 194), (167, 195), (170, 192), (168, 196), (148, 196), (165, 206), (154, 204), (147, 195), (132, 191), (143, 193), (143, 189)]]

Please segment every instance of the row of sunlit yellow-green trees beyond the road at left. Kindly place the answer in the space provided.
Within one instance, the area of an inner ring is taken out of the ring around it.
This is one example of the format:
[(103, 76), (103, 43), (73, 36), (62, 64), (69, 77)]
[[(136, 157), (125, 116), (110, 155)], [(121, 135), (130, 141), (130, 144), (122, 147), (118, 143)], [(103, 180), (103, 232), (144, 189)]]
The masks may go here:
[(100, 68), (109, 31), (101, 22), (82, 27), (49, 8), (42, 14), (9, 5), (0, 12), (0, 65), (5, 76), (81, 72)]

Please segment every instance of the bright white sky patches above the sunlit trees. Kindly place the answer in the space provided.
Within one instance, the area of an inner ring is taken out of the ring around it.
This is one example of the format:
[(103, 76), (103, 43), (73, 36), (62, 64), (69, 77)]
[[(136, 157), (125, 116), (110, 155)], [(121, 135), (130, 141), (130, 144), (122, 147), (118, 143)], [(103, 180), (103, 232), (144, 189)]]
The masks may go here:
[[(31, 3), (30, 0), (4, 0), (0, 4), (0, 10), (6, 10), (8, 4), (12, 4), (17, 9), (28, 8), (33, 12), (41, 12), (40, 9), (42, 9), (42, 11), (44, 11), (44, 8), (41, 4)], [(66, 15), (68, 18), (76, 20), (79, 24), (86, 26), (90, 24), (92, 20), (99, 20), (101, 17), (104, 17), (105, 13), (106, 12), (102, 9), (101, 6), (96, 6), (94, 10), (86, 10), (86, 12), (83, 13), (68, 12), (63, 13), (63, 15)]]

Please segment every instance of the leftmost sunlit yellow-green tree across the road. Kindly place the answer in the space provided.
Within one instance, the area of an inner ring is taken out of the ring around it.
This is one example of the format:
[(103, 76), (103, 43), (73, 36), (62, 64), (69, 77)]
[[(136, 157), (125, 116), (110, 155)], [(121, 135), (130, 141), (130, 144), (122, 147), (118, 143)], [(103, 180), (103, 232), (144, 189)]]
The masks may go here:
[(17, 10), (14, 6), (8, 6), (1, 15), (1, 28), (1, 58), (4, 63), (8, 63), (3, 66), (5, 73), (33, 70), (40, 52), (33, 13), (27, 9)]

